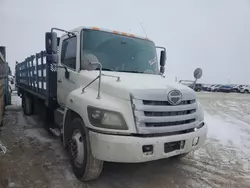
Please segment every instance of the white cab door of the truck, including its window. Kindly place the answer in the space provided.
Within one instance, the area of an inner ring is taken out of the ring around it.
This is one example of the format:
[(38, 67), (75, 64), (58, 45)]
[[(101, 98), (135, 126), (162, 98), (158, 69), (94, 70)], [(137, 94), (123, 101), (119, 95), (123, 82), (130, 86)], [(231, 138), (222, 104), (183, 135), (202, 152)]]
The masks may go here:
[(64, 107), (67, 97), (71, 91), (76, 89), (76, 58), (77, 57), (77, 37), (62, 38), (61, 53), (59, 53), (59, 65), (67, 67), (69, 78), (65, 77), (65, 69), (59, 68), (57, 72), (57, 99), (58, 103)]

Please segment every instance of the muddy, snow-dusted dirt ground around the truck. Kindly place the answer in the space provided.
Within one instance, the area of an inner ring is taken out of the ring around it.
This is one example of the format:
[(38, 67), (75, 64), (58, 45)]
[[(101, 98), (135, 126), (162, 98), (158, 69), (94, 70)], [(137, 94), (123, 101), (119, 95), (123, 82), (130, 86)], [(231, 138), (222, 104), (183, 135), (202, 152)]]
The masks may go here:
[(83, 184), (74, 177), (59, 139), (36, 117), (24, 117), (20, 99), (7, 108), (1, 141), (0, 188), (250, 187), (250, 95), (199, 93), (208, 123), (203, 148), (181, 160), (105, 163), (101, 177)]

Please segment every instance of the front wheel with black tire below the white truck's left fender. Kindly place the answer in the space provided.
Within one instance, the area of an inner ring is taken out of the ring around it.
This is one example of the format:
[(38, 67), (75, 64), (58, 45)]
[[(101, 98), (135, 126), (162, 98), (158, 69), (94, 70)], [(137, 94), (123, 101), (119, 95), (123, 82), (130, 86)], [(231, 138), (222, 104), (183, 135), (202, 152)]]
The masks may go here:
[(90, 181), (99, 177), (103, 161), (92, 155), (88, 130), (79, 117), (73, 118), (66, 132), (66, 148), (70, 156), (73, 172), (80, 181)]

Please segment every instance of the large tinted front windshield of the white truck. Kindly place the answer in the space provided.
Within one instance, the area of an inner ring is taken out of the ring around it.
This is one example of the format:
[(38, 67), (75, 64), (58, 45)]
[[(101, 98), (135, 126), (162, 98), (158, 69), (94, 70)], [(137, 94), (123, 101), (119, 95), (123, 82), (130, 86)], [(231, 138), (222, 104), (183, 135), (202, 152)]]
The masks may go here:
[(156, 48), (152, 41), (83, 30), (81, 45), (82, 69), (91, 57), (102, 64), (103, 70), (159, 74)]

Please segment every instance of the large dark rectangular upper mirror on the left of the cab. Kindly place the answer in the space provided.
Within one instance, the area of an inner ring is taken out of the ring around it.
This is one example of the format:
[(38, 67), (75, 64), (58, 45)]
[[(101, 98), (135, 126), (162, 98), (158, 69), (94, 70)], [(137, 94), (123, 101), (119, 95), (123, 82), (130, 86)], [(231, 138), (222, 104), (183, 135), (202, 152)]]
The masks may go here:
[(46, 32), (45, 33), (45, 47), (47, 54), (56, 54), (57, 53), (57, 34), (55, 32)]

